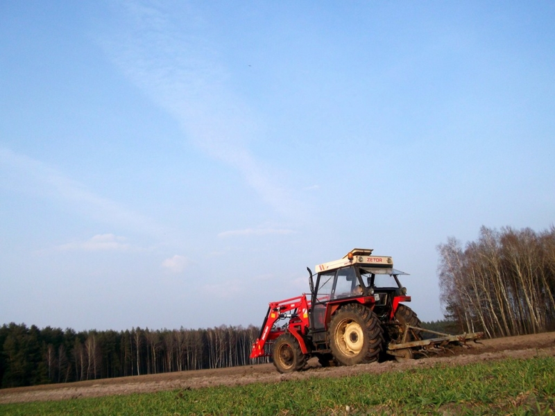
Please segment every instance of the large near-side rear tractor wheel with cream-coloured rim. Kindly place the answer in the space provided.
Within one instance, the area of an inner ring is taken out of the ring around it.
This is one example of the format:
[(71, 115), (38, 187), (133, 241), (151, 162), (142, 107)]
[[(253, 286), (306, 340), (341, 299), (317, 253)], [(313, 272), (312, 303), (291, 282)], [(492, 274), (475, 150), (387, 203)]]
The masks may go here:
[(334, 313), (330, 347), (343, 365), (373, 363), (384, 347), (384, 330), (377, 315), (361, 304), (348, 304)]

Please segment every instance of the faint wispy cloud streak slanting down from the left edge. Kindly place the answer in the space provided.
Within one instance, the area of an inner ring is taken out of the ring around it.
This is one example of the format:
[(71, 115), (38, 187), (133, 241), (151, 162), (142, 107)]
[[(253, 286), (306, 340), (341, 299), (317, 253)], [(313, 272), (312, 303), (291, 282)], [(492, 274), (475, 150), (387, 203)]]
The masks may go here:
[(101, 223), (159, 234), (160, 227), (123, 205), (96, 195), (83, 184), (36, 159), (0, 148), (0, 186), (39, 198), (62, 200)]

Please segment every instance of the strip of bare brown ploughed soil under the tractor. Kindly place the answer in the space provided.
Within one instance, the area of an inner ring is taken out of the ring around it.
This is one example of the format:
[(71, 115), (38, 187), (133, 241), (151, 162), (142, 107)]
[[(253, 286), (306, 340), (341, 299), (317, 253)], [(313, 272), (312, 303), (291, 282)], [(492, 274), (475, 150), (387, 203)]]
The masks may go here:
[(169, 374), (121, 377), (119, 379), (80, 381), (78, 383), (8, 388), (0, 390), (0, 404), (22, 401), (76, 399), (78, 397), (128, 395), (130, 393), (203, 388), (214, 385), (278, 383), (284, 380), (298, 380), (308, 377), (341, 377), (368, 372), (379, 374), (382, 372), (404, 371), (411, 367), (432, 367), (438, 363), (465, 365), (480, 361), (500, 360), (507, 357), (555, 356), (555, 332), (497, 338), (481, 342), (481, 344), (470, 343), (470, 349), (457, 347), (454, 354), (434, 358), (421, 358), (404, 363), (387, 361), (385, 363), (354, 365), (352, 367), (321, 368), (318, 361), (312, 359), (309, 361), (305, 371), (291, 374), (280, 374), (272, 364), (262, 364), (218, 370), (174, 372)]

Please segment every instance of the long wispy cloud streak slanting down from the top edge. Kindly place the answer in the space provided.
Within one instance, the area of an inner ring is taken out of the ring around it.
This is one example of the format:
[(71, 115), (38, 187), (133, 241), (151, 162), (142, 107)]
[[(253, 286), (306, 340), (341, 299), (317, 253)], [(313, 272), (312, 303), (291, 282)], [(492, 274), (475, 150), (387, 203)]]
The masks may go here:
[(268, 205), (298, 215), (302, 206), (282, 186), (281, 173), (271, 173), (249, 150), (261, 135), (260, 117), (232, 92), (204, 17), (189, 6), (181, 15), (164, 12), (159, 3), (121, 6), (126, 24), (101, 41), (121, 71), (172, 114), (196, 146), (237, 169)]

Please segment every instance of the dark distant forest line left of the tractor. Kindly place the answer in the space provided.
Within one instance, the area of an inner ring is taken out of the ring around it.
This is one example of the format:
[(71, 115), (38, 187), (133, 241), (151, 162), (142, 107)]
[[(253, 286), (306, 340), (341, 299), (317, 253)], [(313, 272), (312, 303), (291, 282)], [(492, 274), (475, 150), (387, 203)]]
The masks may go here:
[(0, 327), (0, 388), (232, 367), (251, 360), (259, 328), (81, 331)]

